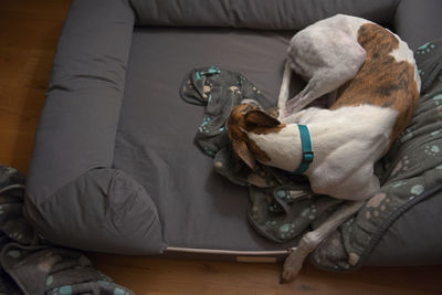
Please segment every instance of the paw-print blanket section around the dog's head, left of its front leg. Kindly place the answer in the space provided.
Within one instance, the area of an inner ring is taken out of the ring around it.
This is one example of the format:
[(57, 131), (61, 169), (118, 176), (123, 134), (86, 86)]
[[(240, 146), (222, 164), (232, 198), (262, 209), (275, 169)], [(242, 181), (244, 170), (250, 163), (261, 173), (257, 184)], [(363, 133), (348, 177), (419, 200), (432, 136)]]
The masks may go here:
[(234, 183), (249, 186), (249, 221), (262, 235), (278, 243), (296, 239), (341, 202), (313, 193), (304, 177), (263, 165), (252, 171), (232, 151), (225, 129), (232, 107), (243, 98), (269, 107), (261, 91), (242, 74), (215, 66), (197, 69), (185, 81), (180, 94), (188, 103), (206, 105), (196, 143), (214, 158), (219, 173)]

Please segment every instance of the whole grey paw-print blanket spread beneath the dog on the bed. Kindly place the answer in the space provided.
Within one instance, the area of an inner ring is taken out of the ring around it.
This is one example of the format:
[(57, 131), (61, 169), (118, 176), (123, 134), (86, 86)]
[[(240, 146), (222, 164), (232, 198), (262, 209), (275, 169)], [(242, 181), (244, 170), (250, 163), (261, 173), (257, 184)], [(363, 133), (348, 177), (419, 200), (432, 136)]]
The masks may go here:
[[(375, 167), (382, 188), (311, 255), (318, 267), (357, 267), (401, 213), (441, 189), (442, 42), (421, 46), (415, 56), (422, 95), (410, 126)], [(293, 241), (295, 245), (303, 233), (317, 228), (343, 204), (313, 193), (303, 177), (262, 165), (251, 171), (235, 156), (225, 130), (231, 108), (243, 98), (255, 99), (264, 108), (272, 106), (245, 76), (217, 66), (196, 69), (185, 80), (180, 96), (188, 103), (206, 106), (196, 135), (197, 146), (213, 158), (214, 170), (220, 175), (249, 186), (249, 221), (263, 236), (278, 243)]]

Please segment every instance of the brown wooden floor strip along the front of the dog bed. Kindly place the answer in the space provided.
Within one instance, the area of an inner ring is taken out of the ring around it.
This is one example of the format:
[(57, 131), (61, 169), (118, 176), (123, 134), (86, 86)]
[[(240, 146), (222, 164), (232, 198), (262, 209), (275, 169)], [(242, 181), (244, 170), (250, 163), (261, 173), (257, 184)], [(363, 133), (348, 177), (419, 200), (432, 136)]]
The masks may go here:
[(306, 265), (281, 285), (278, 264), (172, 261), (90, 254), (95, 265), (137, 294), (438, 294), (442, 267), (364, 267), (329, 273)]

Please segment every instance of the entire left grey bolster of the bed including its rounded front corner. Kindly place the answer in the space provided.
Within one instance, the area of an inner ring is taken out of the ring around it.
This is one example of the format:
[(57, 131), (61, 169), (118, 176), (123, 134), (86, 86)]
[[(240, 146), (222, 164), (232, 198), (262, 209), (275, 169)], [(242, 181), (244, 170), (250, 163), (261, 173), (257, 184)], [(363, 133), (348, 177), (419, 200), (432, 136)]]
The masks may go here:
[(40, 234), (87, 250), (158, 253), (155, 203), (112, 168), (134, 12), (124, 0), (72, 2), (27, 183)]

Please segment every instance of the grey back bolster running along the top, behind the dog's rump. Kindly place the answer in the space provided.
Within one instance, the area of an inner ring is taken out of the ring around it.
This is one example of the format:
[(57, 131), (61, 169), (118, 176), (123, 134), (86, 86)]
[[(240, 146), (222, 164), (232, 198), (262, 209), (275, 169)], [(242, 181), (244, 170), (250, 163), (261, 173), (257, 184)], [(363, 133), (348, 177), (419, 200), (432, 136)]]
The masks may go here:
[(387, 23), (398, 0), (129, 0), (139, 25), (301, 30), (337, 13)]

